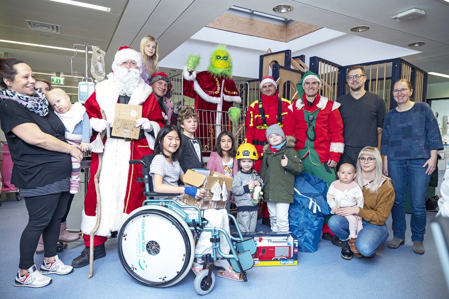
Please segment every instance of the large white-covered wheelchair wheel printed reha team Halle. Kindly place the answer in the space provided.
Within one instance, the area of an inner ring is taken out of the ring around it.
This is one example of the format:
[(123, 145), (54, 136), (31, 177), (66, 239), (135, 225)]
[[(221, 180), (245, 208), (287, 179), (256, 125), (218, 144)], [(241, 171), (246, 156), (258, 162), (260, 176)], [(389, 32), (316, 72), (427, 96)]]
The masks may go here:
[(192, 268), (195, 243), (187, 223), (161, 206), (134, 210), (122, 224), (117, 251), (125, 270), (157, 288), (180, 282)]

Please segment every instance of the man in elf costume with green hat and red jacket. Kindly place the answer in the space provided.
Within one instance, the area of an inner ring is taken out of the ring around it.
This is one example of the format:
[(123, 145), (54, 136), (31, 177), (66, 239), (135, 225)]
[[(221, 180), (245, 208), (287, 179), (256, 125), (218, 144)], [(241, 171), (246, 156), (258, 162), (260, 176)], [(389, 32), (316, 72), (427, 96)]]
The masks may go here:
[[(330, 185), (336, 179), (334, 167), (344, 149), (343, 122), (338, 111), (340, 103), (320, 96), (321, 79), (311, 71), (304, 74), (296, 87), (300, 98), (290, 106), (296, 123), (295, 149), (302, 160), (303, 171)], [(324, 221), (323, 239), (343, 246), (343, 242), (329, 230), (329, 218)]]

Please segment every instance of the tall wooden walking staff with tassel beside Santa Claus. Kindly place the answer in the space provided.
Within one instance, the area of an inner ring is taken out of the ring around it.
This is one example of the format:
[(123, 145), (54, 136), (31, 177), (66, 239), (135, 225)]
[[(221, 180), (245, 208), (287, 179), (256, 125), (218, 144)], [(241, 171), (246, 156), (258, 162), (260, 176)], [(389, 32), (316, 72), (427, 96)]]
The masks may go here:
[[(104, 114), (103, 110), (100, 110), (101, 116), (104, 120), (106, 120), (106, 115)], [(100, 177), (100, 171), (101, 171), (101, 165), (103, 163), (103, 138), (108, 134), (109, 137), (109, 128), (106, 128), (103, 132), (97, 135), (97, 138), (90, 144), (90, 150), (92, 152), (98, 153), (98, 169), (94, 176), (94, 183), (95, 183), (95, 192), (97, 193), (97, 223), (95, 224), (94, 228), (90, 232), (90, 241), (89, 241), (89, 278), (92, 277), (93, 274), (93, 250), (94, 250), (94, 235), (98, 230), (98, 227), (100, 226), (100, 216), (101, 216), (101, 196), (100, 196), (100, 187), (98, 185), (98, 178)]]

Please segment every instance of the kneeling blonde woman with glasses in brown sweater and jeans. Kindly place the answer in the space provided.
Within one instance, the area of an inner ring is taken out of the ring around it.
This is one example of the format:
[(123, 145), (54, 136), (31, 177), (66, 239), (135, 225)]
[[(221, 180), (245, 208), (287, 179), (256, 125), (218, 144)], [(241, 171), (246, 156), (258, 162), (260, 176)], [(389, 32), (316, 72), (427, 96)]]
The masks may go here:
[(378, 149), (366, 147), (360, 151), (356, 181), (362, 188), (363, 208), (339, 208), (336, 215), (329, 219), (330, 230), (344, 241), (341, 257), (345, 260), (352, 259), (353, 253), (348, 244), (349, 223), (344, 216), (356, 214), (362, 217), (363, 229), (359, 232), (356, 243), (359, 253), (355, 255), (358, 258), (372, 258), (379, 245), (389, 236), (385, 221), (395, 201), (393, 185), (390, 179), (382, 174), (382, 159)]

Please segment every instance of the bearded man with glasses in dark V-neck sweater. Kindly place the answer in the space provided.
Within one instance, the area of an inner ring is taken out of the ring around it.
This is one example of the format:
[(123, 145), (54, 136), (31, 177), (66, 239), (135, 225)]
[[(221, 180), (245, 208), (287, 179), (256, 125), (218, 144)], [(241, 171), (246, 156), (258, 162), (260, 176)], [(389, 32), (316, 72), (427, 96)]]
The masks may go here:
[[(364, 147), (377, 147), (385, 117), (384, 100), (365, 90), (366, 73), (361, 65), (348, 68), (347, 83), (350, 92), (337, 99), (341, 104), (345, 151), (338, 166), (343, 163), (357, 164), (359, 152)], [(337, 166), (337, 167), (338, 167)]]

